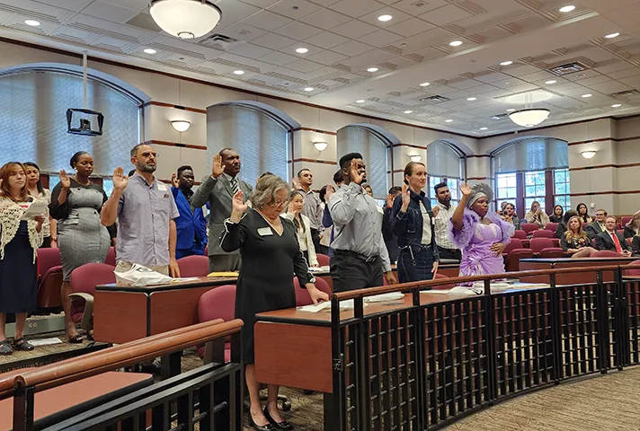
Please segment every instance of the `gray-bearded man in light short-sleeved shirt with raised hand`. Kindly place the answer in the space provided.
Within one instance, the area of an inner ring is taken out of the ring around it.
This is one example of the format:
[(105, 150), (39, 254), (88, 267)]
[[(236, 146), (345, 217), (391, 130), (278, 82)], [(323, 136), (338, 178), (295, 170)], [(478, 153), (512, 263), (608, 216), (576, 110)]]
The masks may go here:
[(156, 180), (156, 150), (139, 144), (131, 149), (132, 177), (121, 167), (113, 172), (113, 191), (102, 207), (101, 221), (118, 220), (117, 272), (134, 263), (171, 277), (180, 277), (175, 261), (175, 219), (180, 216), (169, 187)]

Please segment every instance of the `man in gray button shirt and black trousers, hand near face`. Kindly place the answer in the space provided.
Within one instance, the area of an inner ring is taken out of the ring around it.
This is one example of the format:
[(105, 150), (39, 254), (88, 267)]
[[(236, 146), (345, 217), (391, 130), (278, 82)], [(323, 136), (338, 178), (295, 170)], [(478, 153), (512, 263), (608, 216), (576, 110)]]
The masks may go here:
[(329, 211), (335, 229), (331, 243), (333, 292), (397, 283), (382, 237), (383, 211), (362, 189), (367, 178), (362, 155), (351, 153), (340, 159), (344, 183), (331, 198)]

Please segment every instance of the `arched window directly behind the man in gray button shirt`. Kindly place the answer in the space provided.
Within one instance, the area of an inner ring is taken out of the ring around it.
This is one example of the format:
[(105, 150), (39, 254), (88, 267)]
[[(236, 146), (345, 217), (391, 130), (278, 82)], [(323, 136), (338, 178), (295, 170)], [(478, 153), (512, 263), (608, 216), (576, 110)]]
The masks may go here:
[(367, 165), (367, 184), (376, 199), (386, 198), (389, 189), (389, 148), (394, 143), (388, 135), (383, 129), (368, 125), (350, 125), (338, 130), (338, 160), (344, 154), (362, 154)]

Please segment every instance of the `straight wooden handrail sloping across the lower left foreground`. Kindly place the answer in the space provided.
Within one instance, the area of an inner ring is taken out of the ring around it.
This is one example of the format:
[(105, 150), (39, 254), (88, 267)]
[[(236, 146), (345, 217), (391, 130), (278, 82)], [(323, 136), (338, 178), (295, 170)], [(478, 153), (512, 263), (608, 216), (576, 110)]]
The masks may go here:
[[(238, 332), (242, 326), (243, 321), (240, 319), (227, 322), (217, 320), (171, 330), (146, 339), (131, 341), (118, 347), (110, 347), (99, 352), (14, 374), (12, 387), (18, 385), (22, 387), (35, 386), (36, 391), (42, 391), (124, 366), (135, 365), (158, 356), (168, 355), (187, 347), (209, 342), (212, 339), (227, 337), (227, 335)], [(7, 389), (7, 380), (11, 381), (12, 379), (4, 379), (4, 385), (0, 386), (0, 394)]]

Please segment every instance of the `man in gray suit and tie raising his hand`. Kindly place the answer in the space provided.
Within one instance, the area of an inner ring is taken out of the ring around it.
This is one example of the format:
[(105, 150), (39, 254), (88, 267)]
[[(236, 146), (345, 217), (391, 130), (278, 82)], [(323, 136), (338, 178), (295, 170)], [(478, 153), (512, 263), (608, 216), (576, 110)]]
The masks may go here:
[(209, 202), (209, 271), (236, 271), (240, 269), (238, 251), (227, 253), (220, 248), (220, 236), (224, 222), (231, 216), (232, 199), (238, 190), (248, 200), (252, 187), (238, 178), (240, 155), (233, 148), (224, 148), (213, 157), (211, 175), (200, 184), (191, 198), (193, 207), (202, 207)]

